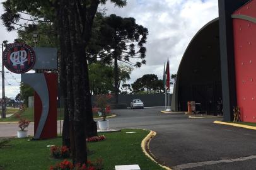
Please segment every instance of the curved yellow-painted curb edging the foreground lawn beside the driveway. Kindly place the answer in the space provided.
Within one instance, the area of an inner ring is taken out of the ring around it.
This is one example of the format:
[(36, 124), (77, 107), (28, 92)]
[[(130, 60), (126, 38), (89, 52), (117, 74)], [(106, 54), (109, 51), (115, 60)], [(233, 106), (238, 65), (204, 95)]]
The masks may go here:
[[(141, 148), (143, 149), (144, 154), (145, 154), (147, 157), (149, 157), (149, 159), (151, 159), (151, 160), (154, 161), (154, 162), (156, 162), (156, 161), (154, 160), (153, 157), (151, 157), (151, 156), (149, 155), (149, 153), (147, 152), (146, 148), (149, 149), (149, 142), (151, 141), (151, 139), (152, 139), (155, 135), (156, 135), (156, 132), (154, 132), (154, 131), (151, 130), (151, 131), (148, 133), (148, 135), (143, 139), (143, 141), (141, 141)], [(158, 164), (159, 166), (163, 167), (163, 168), (166, 169), (166, 170), (172, 170), (172, 169), (170, 169), (170, 167), (162, 166), (162, 165), (159, 164), (158, 162), (156, 162), (156, 164)]]

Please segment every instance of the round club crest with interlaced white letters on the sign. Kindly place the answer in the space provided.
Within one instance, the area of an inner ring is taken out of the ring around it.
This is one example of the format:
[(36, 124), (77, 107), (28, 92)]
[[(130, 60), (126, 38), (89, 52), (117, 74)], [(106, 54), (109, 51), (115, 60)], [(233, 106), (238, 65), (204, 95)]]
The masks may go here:
[(25, 43), (11, 43), (4, 50), (3, 62), (11, 72), (28, 72), (35, 64), (35, 52)]

